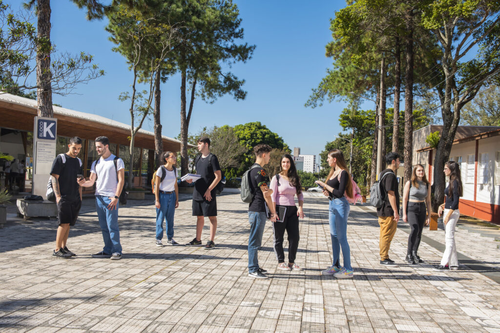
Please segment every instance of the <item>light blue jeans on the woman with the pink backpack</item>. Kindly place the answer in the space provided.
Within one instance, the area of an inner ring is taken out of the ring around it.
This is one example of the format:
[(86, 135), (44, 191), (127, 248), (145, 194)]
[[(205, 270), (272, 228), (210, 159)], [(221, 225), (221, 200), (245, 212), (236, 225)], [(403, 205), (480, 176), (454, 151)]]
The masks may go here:
[(333, 199), (328, 206), (328, 222), (330, 225), (331, 251), (333, 252), (333, 264), (340, 257), (342, 248), (343, 267), (352, 270), (350, 266), (350, 248), (347, 243), (347, 217), (349, 216), (349, 203), (347, 199)]

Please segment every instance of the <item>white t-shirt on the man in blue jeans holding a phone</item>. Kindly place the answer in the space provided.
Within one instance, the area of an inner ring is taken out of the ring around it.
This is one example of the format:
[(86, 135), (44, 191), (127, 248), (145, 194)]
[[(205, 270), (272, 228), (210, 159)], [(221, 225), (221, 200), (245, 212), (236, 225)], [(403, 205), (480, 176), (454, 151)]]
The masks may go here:
[(114, 168), (114, 155), (111, 154), (108, 158), (103, 159), (102, 157), (98, 160), (97, 166), (96, 161), (92, 163), (90, 172), (97, 175), (97, 180), (95, 181), (95, 195), (102, 195), (105, 197), (114, 197), (116, 195), (116, 187), (118, 186), (118, 177), (116, 174), (116, 169), (125, 169), (123, 160), (118, 158), (116, 160), (116, 169)]

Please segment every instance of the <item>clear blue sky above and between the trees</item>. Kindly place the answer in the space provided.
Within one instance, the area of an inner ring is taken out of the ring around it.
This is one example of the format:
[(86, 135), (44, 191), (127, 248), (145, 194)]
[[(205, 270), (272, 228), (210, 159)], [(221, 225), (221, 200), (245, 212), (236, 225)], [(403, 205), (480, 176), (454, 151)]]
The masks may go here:
[[(17, 1), (9, 1), (15, 7)], [(327, 141), (341, 131), (338, 115), (344, 103), (326, 103), (315, 109), (304, 107), (311, 88), (324, 76), (331, 59), (324, 46), (331, 40), (329, 19), (344, 1), (236, 0), (244, 28), (244, 41), (255, 44), (247, 63), (233, 65), (232, 72), (244, 78), (247, 97), (230, 96), (213, 104), (195, 100), (189, 132), (203, 126), (237, 125), (260, 121), (302, 154), (319, 154)], [(131, 73), (125, 59), (111, 51), (113, 44), (104, 30), (107, 20), (87, 21), (85, 12), (69, 0), (51, 1), (51, 39), (59, 51), (94, 55), (104, 77), (76, 87), (74, 94), (53, 95), (63, 107), (95, 113), (130, 123), (128, 105), (118, 101), (129, 90)], [(180, 77), (172, 76), (161, 86), (163, 135), (176, 136), (180, 128)], [(370, 104), (367, 107), (372, 107)], [(152, 120), (144, 129), (152, 131)]]

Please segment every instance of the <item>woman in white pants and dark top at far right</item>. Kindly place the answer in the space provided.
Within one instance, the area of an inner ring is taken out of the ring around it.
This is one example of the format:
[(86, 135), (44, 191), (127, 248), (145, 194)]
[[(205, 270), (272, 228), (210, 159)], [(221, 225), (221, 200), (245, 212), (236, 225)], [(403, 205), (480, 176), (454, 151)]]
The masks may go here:
[(444, 190), (446, 201), (439, 206), (437, 215), (443, 214), (442, 222), (444, 223), (444, 240), (446, 248), (442, 255), (439, 266), (434, 267), (434, 271), (443, 271), (446, 269), (457, 270), (458, 260), (456, 259), (455, 245), (455, 226), (460, 217), (458, 211), (458, 198), (463, 195), (462, 180), (460, 178), (460, 168), (458, 163), (448, 161), (444, 164), (444, 175), (449, 177), (449, 183)]

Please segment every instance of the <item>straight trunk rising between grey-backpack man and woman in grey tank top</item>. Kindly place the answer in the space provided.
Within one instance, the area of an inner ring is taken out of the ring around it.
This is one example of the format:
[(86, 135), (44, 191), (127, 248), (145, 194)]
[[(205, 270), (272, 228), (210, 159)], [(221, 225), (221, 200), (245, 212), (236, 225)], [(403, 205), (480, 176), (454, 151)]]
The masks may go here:
[(411, 178), (413, 159), (413, 13), (406, 21), (406, 85), (404, 87), (404, 182)]

